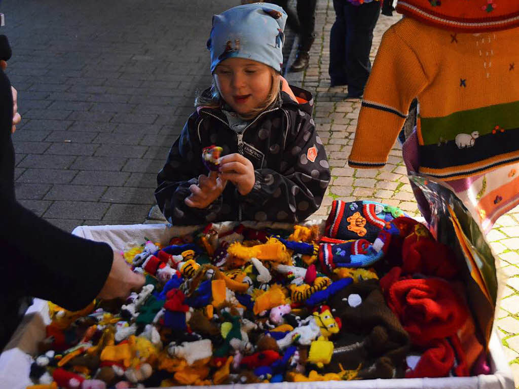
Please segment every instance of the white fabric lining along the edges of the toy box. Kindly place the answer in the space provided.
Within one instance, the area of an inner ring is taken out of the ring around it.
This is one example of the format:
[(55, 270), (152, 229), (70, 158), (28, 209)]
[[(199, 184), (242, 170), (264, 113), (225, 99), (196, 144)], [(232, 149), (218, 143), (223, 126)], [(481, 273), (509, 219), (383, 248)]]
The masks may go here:
[[(312, 220), (309, 224), (324, 225), (324, 220)], [(214, 224), (217, 231), (227, 231), (237, 223)], [(281, 223), (251, 223), (255, 228), (287, 228)], [(168, 225), (129, 226), (79, 226), (73, 231), (79, 237), (103, 241), (114, 249), (123, 250), (135, 244), (142, 244), (144, 237), (153, 242), (167, 244), (173, 236), (196, 230), (196, 226), (170, 227)], [(45, 326), (50, 322), (47, 302), (35, 299), (25, 318), (0, 354), (0, 389), (25, 389), (33, 385), (29, 378), (31, 355), (36, 353), (37, 342), (45, 337)], [(316, 381), (280, 382), (261, 384), (233, 384), (200, 386), (206, 389), (513, 389), (514, 381), (510, 367), (504, 356), (501, 342), (494, 329), (489, 343), (490, 365), (493, 374), (474, 377), (443, 377), (413, 379), (376, 379), (359, 381)], [(187, 386), (174, 386), (182, 388)], [(158, 389), (158, 388), (156, 388)]]

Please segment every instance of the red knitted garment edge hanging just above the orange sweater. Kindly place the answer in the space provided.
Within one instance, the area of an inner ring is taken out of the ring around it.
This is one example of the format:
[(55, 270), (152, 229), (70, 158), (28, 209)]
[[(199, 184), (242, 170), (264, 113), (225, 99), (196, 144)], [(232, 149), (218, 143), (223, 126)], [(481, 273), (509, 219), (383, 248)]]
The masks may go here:
[(519, 26), (514, 0), (399, 0), (397, 12), (457, 32), (484, 32)]

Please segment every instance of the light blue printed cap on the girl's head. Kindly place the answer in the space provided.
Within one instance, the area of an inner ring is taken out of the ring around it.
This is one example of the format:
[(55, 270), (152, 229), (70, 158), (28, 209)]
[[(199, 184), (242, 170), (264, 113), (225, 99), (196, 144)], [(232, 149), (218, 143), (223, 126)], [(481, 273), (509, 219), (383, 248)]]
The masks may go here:
[(264, 63), (280, 72), (286, 13), (270, 3), (230, 8), (213, 16), (207, 41), (211, 52), (211, 73), (227, 58), (245, 58)]

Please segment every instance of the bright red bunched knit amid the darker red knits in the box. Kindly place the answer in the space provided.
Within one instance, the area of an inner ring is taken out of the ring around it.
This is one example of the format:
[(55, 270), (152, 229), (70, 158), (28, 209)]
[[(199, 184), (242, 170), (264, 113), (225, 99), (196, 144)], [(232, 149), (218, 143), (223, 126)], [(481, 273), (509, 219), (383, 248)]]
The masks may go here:
[(397, 281), (389, 287), (387, 299), (411, 342), (421, 346), (454, 335), (469, 315), (465, 302), (441, 279)]

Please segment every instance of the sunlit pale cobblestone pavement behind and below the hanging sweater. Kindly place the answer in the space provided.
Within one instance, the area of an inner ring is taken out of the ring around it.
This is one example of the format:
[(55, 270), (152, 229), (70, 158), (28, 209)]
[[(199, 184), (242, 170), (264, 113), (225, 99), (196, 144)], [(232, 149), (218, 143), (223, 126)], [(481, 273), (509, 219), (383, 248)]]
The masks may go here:
[[(371, 51), (372, 61), (384, 32), (400, 20), (397, 13), (393, 15), (381, 15), (378, 20)], [(291, 84), (302, 85), (315, 95), (315, 122), (332, 169), (331, 185), (315, 217), (322, 218), (328, 215), (334, 199), (370, 199), (399, 206), (407, 213), (418, 216), (419, 212), (401, 157), (402, 148), (398, 141), (390, 152), (387, 165), (380, 170), (351, 169), (346, 164), (353, 144), (360, 101), (345, 101), (347, 88), (330, 88), (329, 44), (330, 29), (334, 20), (332, 0), (319, 0), (317, 37), (310, 52), (310, 66), (304, 73), (287, 75)], [(499, 308), (496, 310), (496, 325), (515, 384), (519, 385), (519, 206), (498, 219), (487, 239), (499, 257), (502, 272), (508, 277)]]

